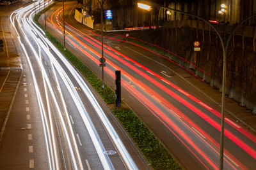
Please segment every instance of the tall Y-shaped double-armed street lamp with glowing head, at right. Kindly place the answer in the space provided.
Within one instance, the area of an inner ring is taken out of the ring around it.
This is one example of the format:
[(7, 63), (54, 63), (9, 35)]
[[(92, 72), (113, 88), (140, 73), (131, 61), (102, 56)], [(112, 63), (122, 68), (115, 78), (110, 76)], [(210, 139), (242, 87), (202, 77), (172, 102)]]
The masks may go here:
[[(155, 4), (155, 5), (159, 6), (159, 4)], [(147, 4), (143, 4), (143, 3), (138, 3), (138, 6), (139, 6), (139, 8), (141, 8), (143, 10), (148, 10), (148, 9), (152, 8), (151, 6), (149, 6)], [(222, 6), (223, 6), (223, 4), (221, 4), (221, 8), (222, 8)], [(198, 17), (198, 16), (193, 15), (191, 13), (186, 13), (184, 11), (175, 10), (173, 8), (168, 8), (168, 7), (164, 7), (164, 6), (160, 6), (160, 7), (164, 8), (166, 10), (177, 11), (177, 12), (182, 13), (184, 15), (189, 15), (191, 17), (195, 17), (195, 18), (198, 18), (200, 20), (203, 20), (207, 25), (209, 25), (212, 29), (214, 29), (214, 31), (216, 32), (216, 34), (220, 38), (221, 46), (222, 46), (222, 50), (223, 50), (223, 76), (222, 76), (222, 95), (221, 95), (221, 135), (220, 135), (220, 170), (222, 170), (223, 169), (223, 150), (224, 150), (224, 123), (225, 123), (224, 111), (225, 111), (225, 83), (226, 83), (226, 67), (227, 67), (227, 63), (226, 63), (226, 60), (227, 60), (227, 48), (228, 48), (228, 44), (230, 42), (230, 39), (232, 38), (233, 34), (236, 32), (236, 29), (241, 24), (246, 22), (246, 20), (249, 20), (250, 18), (255, 17), (256, 13), (254, 13), (253, 15), (250, 15), (249, 17), (247, 17), (244, 20), (242, 20), (239, 24), (237, 24), (232, 29), (230, 35), (227, 38), (227, 41), (224, 41), (224, 38), (223, 38), (223, 36), (221, 36), (221, 33), (210, 22), (208, 22), (204, 18)], [(223, 8), (225, 8), (225, 6)]]

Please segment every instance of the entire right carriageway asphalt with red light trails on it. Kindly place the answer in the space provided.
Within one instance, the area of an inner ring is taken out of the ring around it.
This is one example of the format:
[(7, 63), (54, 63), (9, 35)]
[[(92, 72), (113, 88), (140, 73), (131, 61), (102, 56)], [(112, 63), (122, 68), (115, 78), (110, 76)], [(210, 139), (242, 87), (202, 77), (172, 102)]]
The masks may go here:
[[(65, 2), (68, 50), (101, 77), (100, 36), (74, 20), (76, 2)], [(47, 11), (47, 31), (63, 42), (63, 7)], [(44, 15), (42, 15), (44, 16)], [(43, 24), (43, 17), (40, 18)], [(220, 107), (175, 73), (177, 64), (120, 36), (104, 37), (105, 80), (115, 89), (115, 70), (122, 73), (122, 97), (156, 134), (184, 169), (218, 169)], [(192, 76), (192, 75), (191, 75)], [(256, 137), (225, 118), (224, 169), (255, 169)]]

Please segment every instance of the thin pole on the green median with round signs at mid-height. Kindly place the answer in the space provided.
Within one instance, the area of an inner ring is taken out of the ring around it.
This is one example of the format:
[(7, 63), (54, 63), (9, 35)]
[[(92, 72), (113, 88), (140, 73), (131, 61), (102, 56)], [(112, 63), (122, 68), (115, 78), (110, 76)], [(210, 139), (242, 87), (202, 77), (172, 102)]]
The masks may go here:
[(103, 55), (103, 4), (105, 3), (106, 0), (98, 0), (101, 8), (101, 58), (100, 58), (100, 67), (102, 67), (102, 89), (104, 89), (104, 66), (106, 66), (106, 59), (104, 58)]

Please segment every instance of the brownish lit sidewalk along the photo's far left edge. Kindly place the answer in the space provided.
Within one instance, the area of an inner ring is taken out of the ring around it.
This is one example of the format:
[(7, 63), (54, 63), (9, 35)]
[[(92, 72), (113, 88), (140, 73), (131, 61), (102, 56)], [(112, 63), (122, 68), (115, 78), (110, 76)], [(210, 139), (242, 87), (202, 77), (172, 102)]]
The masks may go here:
[(0, 140), (22, 76), (19, 53), (10, 30), (9, 13), (3, 9), (1, 6), (0, 39), (3, 39), (4, 47), (0, 52)]

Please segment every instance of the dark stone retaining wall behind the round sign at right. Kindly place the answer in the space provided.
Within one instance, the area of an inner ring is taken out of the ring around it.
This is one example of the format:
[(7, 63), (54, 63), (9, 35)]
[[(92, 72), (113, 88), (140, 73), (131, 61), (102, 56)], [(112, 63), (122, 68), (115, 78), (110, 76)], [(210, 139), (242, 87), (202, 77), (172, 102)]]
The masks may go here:
[[(220, 27), (221, 25), (219, 29)], [(225, 30), (222, 35), (227, 38), (224, 32)], [(227, 52), (226, 83), (227, 95), (254, 111), (256, 109), (255, 34), (256, 29), (253, 27), (241, 27), (231, 39)], [(170, 56), (173, 60), (194, 69), (198, 76), (221, 91), (223, 51), (220, 39), (214, 31), (200, 22), (197, 22), (196, 26), (189, 25), (188, 22), (169, 22), (163, 25), (161, 36), (163, 47), (204, 69), (210, 76)], [(196, 40), (200, 41), (200, 52), (194, 52), (193, 42)]]

